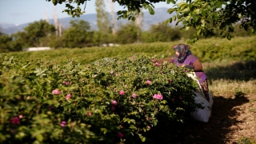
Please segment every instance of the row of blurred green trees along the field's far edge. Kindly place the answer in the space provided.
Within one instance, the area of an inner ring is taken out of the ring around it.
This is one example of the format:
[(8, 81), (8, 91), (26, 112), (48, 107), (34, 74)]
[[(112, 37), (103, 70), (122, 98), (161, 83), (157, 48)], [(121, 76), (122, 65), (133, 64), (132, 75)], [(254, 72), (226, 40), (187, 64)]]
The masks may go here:
[[(250, 36), (245, 30), (234, 26), (234, 36)], [(172, 42), (193, 38), (196, 30), (180, 30), (180, 26), (164, 25), (159, 22), (151, 25), (149, 30), (139, 30), (135, 22), (120, 25), (116, 33), (108, 30), (91, 30), (90, 23), (84, 20), (71, 20), (70, 27), (63, 30), (62, 36), (55, 33), (54, 25), (40, 20), (30, 23), (23, 31), (16, 34), (0, 36), (0, 52), (21, 51), (23, 48), (50, 46), (58, 48), (82, 48), (101, 46), (102, 44), (130, 44), (134, 42)]]

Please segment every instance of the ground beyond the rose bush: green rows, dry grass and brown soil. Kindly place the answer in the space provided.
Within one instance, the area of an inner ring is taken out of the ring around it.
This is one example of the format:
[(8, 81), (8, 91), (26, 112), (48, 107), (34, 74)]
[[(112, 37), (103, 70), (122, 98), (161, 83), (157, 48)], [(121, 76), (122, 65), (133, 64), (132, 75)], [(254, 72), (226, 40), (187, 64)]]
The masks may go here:
[[(256, 37), (231, 41), (210, 38), (191, 45), (208, 77), (214, 106), (207, 123), (186, 122), (173, 127), (173, 137), (162, 143), (255, 143), (256, 142)], [(182, 41), (180, 41), (182, 42)], [(77, 58), (83, 65), (102, 58), (130, 57), (133, 54), (174, 54), (172, 46), (180, 42), (134, 44), (118, 47), (60, 49), (44, 52), (10, 53), (17, 58), (60, 62)], [(164, 130), (164, 128), (163, 128)]]

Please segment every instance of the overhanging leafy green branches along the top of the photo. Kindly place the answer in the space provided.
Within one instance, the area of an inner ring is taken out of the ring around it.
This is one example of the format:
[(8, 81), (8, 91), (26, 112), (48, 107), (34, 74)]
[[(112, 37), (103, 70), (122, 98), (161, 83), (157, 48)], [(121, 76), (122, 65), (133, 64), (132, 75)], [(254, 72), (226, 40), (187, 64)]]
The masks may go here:
[[(46, 0), (53, 2), (54, 5), (66, 0)], [(89, 0), (69, 1), (66, 4), (67, 9), (64, 10), (72, 17), (84, 14), (79, 7)], [(78, 4), (77, 8), (71, 6), (70, 3)], [(200, 36), (204, 38), (214, 34), (214, 28), (221, 30), (222, 38), (231, 39), (231, 33), (234, 32), (234, 23), (240, 22), (240, 28), (254, 34), (256, 29), (256, 2), (255, 0), (114, 0), (120, 6), (124, 6), (127, 10), (118, 11), (118, 19), (128, 18), (135, 20), (136, 14), (140, 8), (150, 11), (154, 14), (154, 3), (166, 2), (174, 4), (174, 7), (168, 10), (168, 13), (176, 13), (174, 17), (168, 18), (168, 22), (182, 22), (182, 30), (196, 29), (195, 38), (189, 42), (196, 42)]]

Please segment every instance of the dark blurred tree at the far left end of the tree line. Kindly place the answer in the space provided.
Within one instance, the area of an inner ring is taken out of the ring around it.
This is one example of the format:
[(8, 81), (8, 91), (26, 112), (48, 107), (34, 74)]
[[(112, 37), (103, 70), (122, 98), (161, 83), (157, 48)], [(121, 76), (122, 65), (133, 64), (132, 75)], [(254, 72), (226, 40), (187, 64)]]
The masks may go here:
[(0, 53), (7, 53), (12, 51), (21, 51), (22, 46), (14, 38), (7, 34), (1, 34), (0, 36)]

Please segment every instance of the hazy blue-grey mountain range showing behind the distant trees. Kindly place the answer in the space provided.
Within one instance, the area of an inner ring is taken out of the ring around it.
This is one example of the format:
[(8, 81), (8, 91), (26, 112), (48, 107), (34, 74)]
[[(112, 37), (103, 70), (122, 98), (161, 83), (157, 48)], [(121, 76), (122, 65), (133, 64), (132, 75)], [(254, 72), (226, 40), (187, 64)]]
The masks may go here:
[[(158, 8), (155, 9), (155, 14), (151, 15), (149, 11), (145, 11), (143, 14), (142, 30), (149, 30), (151, 25), (158, 24), (163, 22), (166, 19), (172, 17), (174, 14), (167, 13), (168, 8)], [(115, 15), (115, 18), (118, 18)], [(80, 18), (59, 18), (58, 22), (62, 22), (63, 29), (67, 29), (70, 26), (70, 20), (82, 19), (90, 23), (91, 30), (97, 30), (97, 14), (83, 14)], [(54, 24), (54, 20), (50, 19), (49, 22)], [(126, 24), (129, 22), (127, 19), (119, 19), (116, 21), (116, 26), (119, 24)], [(15, 34), (18, 31), (22, 31), (24, 27), (28, 26), (30, 23), (25, 23), (19, 26), (14, 24), (0, 23), (1, 31), (5, 34)], [(173, 23), (172, 23), (173, 24)]]

